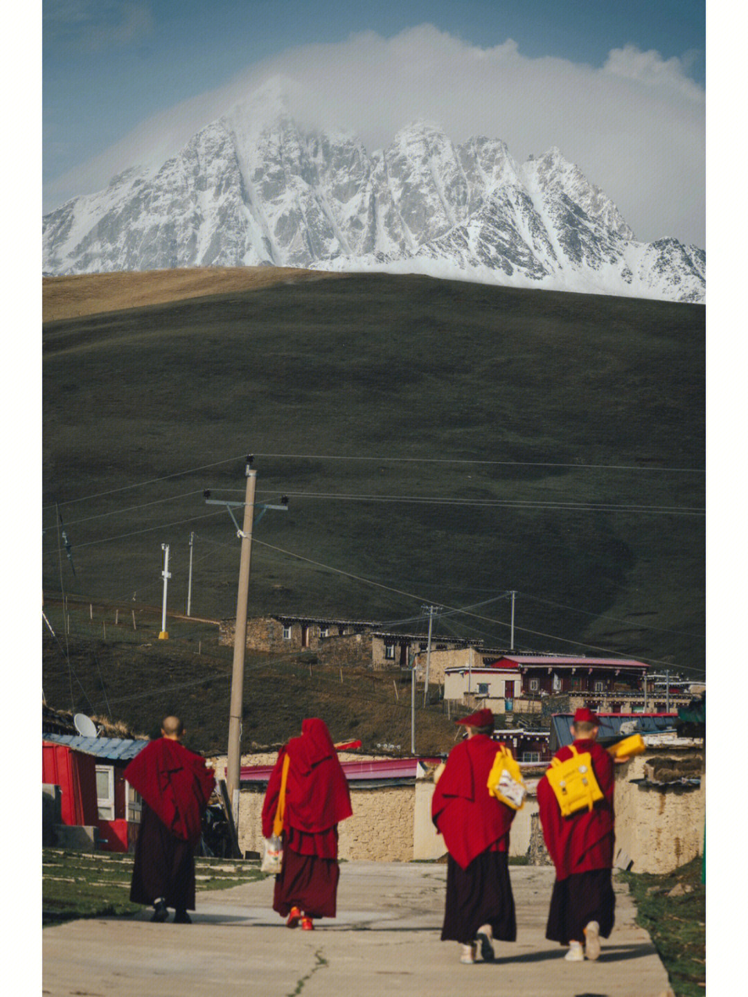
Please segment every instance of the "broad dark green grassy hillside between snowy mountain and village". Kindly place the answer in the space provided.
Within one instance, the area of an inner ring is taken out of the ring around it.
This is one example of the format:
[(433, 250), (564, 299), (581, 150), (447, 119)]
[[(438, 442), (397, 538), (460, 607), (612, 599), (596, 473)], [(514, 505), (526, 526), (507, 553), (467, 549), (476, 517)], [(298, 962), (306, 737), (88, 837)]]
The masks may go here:
[[(238, 541), (202, 490), (243, 498), (251, 452), (290, 510), (256, 526), (250, 613), (393, 622), (516, 589), (518, 648), (695, 674), (703, 378), (702, 307), (420, 276), (51, 322), (45, 592), (158, 606), (168, 542), (184, 610), (193, 530), (192, 613), (233, 616)], [(507, 646), (509, 602), (474, 612), (437, 633)]]

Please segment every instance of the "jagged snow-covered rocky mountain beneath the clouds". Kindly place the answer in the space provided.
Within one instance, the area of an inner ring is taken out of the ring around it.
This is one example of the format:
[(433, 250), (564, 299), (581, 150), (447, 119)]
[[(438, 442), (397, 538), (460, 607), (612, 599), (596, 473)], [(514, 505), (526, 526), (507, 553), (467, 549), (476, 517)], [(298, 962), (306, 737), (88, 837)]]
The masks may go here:
[(558, 149), (520, 165), (499, 140), (456, 146), (418, 123), (369, 153), (350, 135), (300, 129), (262, 91), (162, 166), (130, 168), (44, 217), (47, 273), (240, 265), (705, 297), (703, 250), (636, 241)]

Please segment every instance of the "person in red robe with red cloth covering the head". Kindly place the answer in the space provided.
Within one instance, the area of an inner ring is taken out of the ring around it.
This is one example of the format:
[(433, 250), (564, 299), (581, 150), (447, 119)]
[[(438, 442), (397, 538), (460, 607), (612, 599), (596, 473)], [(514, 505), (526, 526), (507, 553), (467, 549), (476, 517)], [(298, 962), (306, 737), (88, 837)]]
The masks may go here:
[(283, 762), (289, 759), (283, 817), (283, 863), (275, 876), (273, 910), (286, 925), (310, 931), (315, 917), (334, 917), (338, 878), (338, 829), (350, 817), (348, 782), (322, 720), (301, 725), (278, 754), (262, 806), (262, 834), (270, 837), (280, 796)]

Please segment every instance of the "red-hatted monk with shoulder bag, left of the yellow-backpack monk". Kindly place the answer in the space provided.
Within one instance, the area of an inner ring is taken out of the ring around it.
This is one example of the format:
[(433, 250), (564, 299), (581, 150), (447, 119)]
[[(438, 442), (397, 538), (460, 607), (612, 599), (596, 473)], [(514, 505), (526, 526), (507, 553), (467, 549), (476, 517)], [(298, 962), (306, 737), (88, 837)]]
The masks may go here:
[(431, 805), (449, 851), (442, 941), (460, 942), (465, 963), (475, 962), (480, 943), (483, 959), (491, 962), (492, 938), (517, 938), (508, 865), (515, 811), (487, 786), (499, 749), (491, 740), (494, 714), (479, 710), (457, 723), (467, 728), (467, 739), (450, 752)]

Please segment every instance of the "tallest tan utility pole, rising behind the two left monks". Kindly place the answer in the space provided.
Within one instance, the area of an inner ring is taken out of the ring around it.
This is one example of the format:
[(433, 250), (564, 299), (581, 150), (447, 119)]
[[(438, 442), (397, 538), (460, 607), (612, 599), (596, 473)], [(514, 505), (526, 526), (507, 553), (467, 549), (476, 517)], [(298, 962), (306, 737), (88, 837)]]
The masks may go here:
[(233, 811), (234, 822), (238, 817), (239, 762), (241, 756), (241, 708), (244, 691), (244, 649), (246, 647), (246, 616), (249, 599), (249, 564), (252, 552), (252, 520), (254, 517), (254, 489), (257, 472), (246, 466), (246, 493), (244, 496), (244, 521), (241, 528), (241, 556), (239, 583), (236, 595), (236, 629), (233, 635), (233, 668), (231, 672), (231, 702), (228, 713), (228, 751), (226, 789)]

